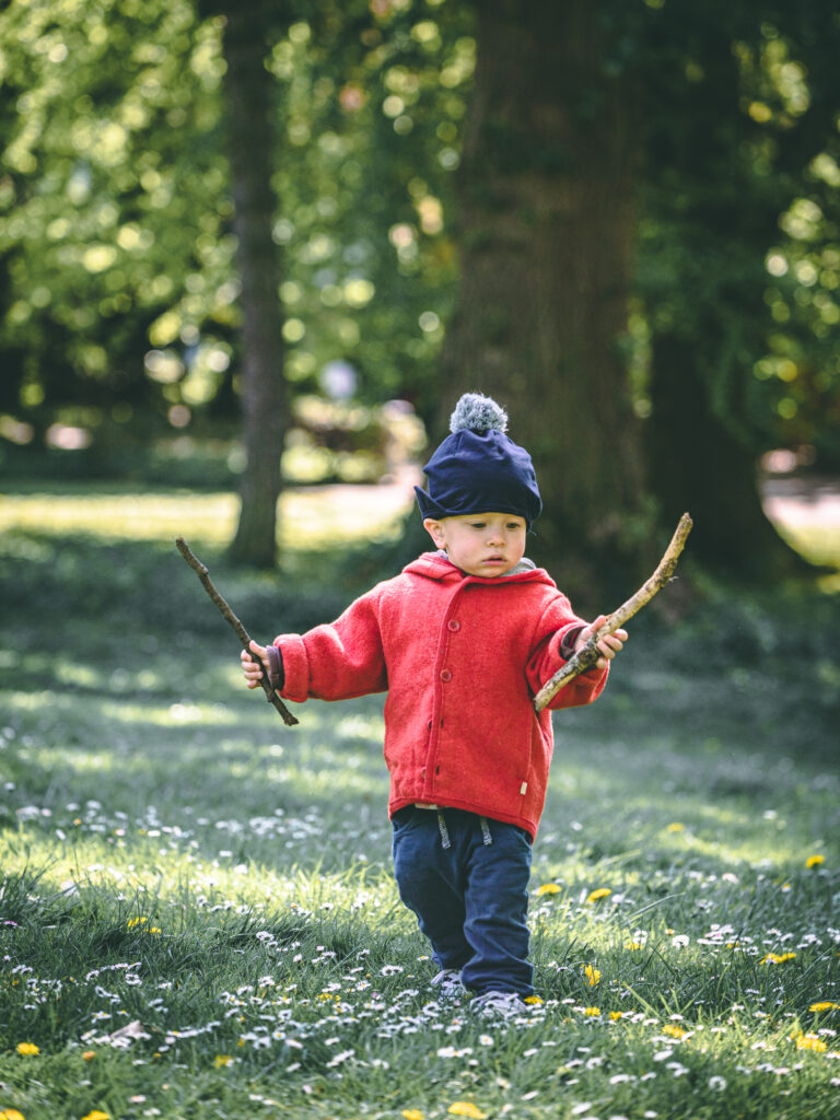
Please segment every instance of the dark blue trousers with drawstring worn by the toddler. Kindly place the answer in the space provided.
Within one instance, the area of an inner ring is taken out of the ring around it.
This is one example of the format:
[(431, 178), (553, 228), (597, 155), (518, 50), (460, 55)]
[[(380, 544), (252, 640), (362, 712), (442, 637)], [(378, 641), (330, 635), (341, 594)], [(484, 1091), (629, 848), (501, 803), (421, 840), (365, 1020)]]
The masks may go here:
[(433, 810), (407, 806), (394, 814), (400, 897), (417, 914), (438, 968), (461, 969), (464, 986), (479, 996), (531, 996), (525, 921), (531, 837), (515, 824), (460, 809), (445, 809), (442, 815), (446, 837)]

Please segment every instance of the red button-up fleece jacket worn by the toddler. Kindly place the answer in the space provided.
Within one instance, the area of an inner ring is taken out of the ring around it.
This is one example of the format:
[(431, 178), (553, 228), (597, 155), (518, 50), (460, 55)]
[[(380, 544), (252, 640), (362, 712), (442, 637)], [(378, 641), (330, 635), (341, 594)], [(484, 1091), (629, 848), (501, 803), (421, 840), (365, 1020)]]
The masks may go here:
[[(424, 553), (332, 625), (274, 640), (282, 694), (343, 700), (388, 691), (389, 812), (466, 809), (535, 836), (553, 749), (533, 697), (584, 619), (542, 569), (485, 579)], [(607, 670), (577, 676), (552, 708), (590, 703)]]

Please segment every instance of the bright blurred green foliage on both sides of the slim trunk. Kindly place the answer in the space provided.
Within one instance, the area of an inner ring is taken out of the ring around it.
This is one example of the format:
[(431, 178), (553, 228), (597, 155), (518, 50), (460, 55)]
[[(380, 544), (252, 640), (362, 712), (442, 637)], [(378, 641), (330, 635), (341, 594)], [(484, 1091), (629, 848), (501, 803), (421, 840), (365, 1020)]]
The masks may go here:
[[(267, 22), (286, 376), (311, 392), (343, 362), (362, 401), (429, 395), (455, 281), (442, 197), (474, 63), (468, 15), (454, 10), (444, 36), (407, 6), (299, 7), (311, 21)], [(110, 454), (138, 421), (146, 438), (233, 421), (222, 30), (187, 0), (0, 15), (7, 438), (58, 421), (110, 433)]]

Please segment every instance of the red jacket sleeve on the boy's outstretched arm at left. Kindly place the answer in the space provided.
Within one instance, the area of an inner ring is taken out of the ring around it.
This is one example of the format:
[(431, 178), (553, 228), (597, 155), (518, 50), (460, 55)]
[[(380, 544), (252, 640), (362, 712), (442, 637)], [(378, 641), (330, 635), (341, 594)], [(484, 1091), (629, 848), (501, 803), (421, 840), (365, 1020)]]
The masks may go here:
[(280, 634), (282, 696), (301, 702), (348, 700), (388, 689), (376, 588), (356, 599), (334, 623), (306, 634)]

